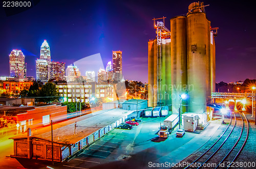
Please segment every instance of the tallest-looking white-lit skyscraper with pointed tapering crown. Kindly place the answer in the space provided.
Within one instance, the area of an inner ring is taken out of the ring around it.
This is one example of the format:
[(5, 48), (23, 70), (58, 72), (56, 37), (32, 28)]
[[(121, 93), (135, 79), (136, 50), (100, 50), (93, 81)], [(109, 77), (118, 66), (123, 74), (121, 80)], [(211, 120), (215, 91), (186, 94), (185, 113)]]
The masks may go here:
[(36, 61), (36, 80), (47, 82), (50, 79), (51, 53), (46, 40), (40, 48), (40, 59)]

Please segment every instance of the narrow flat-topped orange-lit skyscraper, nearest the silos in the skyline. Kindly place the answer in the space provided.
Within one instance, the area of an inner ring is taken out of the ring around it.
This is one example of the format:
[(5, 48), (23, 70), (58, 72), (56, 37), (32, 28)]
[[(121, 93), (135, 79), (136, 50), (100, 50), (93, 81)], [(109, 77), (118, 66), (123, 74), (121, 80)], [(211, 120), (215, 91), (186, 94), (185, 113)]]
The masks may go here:
[(113, 72), (115, 80), (122, 80), (122, 51), (113, 51)]

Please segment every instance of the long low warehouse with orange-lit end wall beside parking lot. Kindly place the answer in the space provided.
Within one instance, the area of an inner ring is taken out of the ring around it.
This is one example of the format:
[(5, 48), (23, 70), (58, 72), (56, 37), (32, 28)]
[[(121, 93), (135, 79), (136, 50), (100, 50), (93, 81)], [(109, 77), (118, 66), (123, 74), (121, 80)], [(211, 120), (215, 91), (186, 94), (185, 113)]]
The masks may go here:
[(12, 137), (14, 155), (11, 157), (52, 160), (53, 153), (54, 161), (64, 161), (123, 123), (132, 112), (118, 108), (101, 110), (53, 125), (52, 132), (45, 129)]

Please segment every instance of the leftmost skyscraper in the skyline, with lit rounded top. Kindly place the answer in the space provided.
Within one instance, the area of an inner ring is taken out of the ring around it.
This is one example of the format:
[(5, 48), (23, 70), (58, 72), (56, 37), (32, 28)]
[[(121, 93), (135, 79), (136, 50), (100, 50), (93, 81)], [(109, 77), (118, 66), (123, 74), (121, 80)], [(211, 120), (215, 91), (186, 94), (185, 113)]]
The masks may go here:
[(25, 55), (21, 50), (13, 49), (9, 55), (10, 76), (18, 78), (19, 81), (24, 81), (26, 77)]

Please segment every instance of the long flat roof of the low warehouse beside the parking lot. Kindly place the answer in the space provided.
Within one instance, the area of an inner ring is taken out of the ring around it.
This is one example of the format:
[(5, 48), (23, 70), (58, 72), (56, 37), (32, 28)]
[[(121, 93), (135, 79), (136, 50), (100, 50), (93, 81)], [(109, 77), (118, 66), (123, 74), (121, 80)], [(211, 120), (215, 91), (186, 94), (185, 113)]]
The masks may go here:
[[(127, 115), (130, 115), (132, 112), (133, 111), (123, 110), (118, 108), (109, 109), (109, 110), (100, 110), (80, 118), (54, 124), (53, 126), (55, 129), (53, 130), (53, 142), (62, 143), (62, 144), (75, 144), (79, 142), (79, 140), (91, 135), (95, 131), (98, 131), (99, 129), (106, 127), (116, 122), (117, 120)], [(74, 134), (75, 122), (77, 125), (76, 134)], [(33, 134), (30, 137), (36, 137), (36, 138), (51, 141), (52, 137), (51, 137), (51, 131), (49, 131), (50, 129), (49, 127), (48, 127), (48, 130), (47, 130), (47, 127), (42, 128), (44, 130), (41, 130), (41, 131), (38, 130), (37, 134)], [(24, 133), (22, 135), (18, 135), (11, 138), (18, 139), (18, 138), (27, 138), (27, 137), (28, 137), (27, 133)]]

